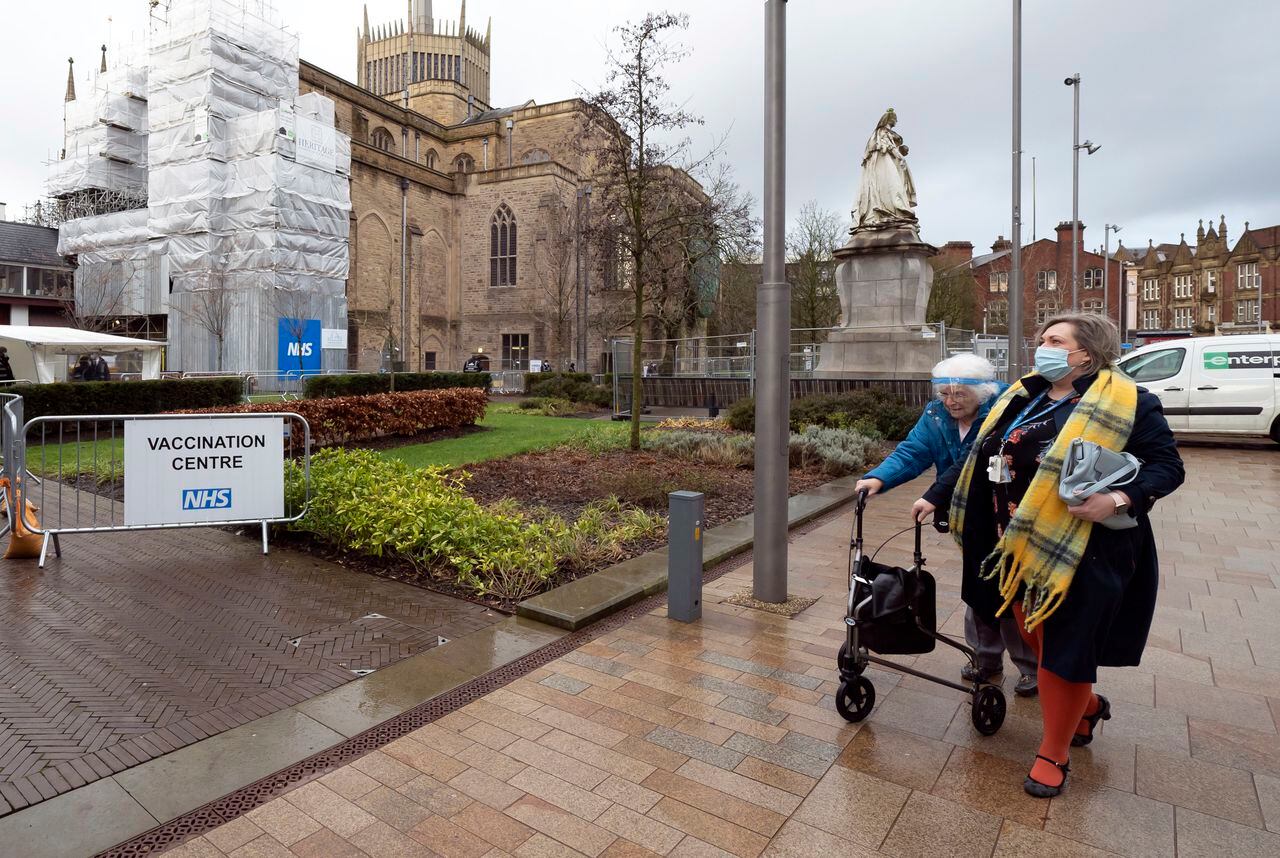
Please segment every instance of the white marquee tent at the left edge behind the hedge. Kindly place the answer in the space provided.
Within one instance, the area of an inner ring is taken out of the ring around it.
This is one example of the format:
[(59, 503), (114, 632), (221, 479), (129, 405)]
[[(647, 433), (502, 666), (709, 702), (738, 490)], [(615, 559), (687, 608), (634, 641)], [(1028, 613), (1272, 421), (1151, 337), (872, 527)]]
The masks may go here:
[(15, 379), (42, 384), (65, 382), (81, 355), (141, 353), (142, 378), (160, 378), (165, 343), (74, 328), (0, 325), (0, 347), (8, 350)]

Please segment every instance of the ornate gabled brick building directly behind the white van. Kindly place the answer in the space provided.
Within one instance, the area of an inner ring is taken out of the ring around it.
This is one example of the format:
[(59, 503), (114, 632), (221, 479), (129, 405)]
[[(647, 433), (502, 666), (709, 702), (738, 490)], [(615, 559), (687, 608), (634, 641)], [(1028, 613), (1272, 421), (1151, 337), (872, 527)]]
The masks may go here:
[(1149, 243), (1130, 251), (1138, 292), (1135, 328), (1188, 334), (1274, 328), (1280, 321), (1277, 260), (1280, 225), (1244, 232), (1230, 245), (1226, 218), (1204, 222), (1196, 245), (1183, 234), (1176, 245)]

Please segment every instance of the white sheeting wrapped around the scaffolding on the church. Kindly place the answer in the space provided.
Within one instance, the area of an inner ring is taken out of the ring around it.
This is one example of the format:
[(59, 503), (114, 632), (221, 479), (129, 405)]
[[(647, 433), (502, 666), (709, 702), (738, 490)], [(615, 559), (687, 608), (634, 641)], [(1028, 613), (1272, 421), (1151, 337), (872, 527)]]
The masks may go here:
[[(141, 214), (63, 227), (60, 247), (79, 254), (86, 287), (104, 266), (137, 264), (122, 274), (124, 304), (169, 314), (168, 364), (188, 371), (274, 366), (282, 318), (346, 329), (351, 140), (330, 99), (298, 95), (297, 36), (271, 4), (173, 0), (152, 27), (143, 79), (141, 147), (115, 124), (79, 132), (113, 164), (142, 169), (147, 188)], [(325, 350), (323, 366), (346, 368), (346, 353)]]

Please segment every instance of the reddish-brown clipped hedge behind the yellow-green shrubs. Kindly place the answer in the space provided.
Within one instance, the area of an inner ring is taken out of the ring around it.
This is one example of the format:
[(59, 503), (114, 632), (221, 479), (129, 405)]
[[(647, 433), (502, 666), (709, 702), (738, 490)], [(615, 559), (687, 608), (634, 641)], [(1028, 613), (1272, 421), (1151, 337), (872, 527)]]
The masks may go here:
[[(326, 447), (384, 435), (416, 435), (431, 429), (461, 429), (484, 416), (489, 397), (476, 388), (334, 396), (294, 402), (248, 402), (182, 414), (294, 411), (311, 425), (311, 444)], [(294, 430), (297, 435), (297, 429)], [(294, 437), (296, 443), (302, 438)]]

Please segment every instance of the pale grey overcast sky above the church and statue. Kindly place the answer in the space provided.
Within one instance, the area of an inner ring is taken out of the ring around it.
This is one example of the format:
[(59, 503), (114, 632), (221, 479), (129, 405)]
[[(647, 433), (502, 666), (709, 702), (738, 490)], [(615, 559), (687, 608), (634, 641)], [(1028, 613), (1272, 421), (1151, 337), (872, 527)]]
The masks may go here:
[[(182, 3), (183, 0), (173, 0)], [(256, 3), (257, 0), (250, 0)], [(355, 77), (361, 4), (278, 0), (302, 56)], [(456, 19), (458, 0), (436, 0)], [(369, 4), (372, 23), (403, 0)], [(887, 106), (911, 149), (925, 239), (968, 239), (977, 252), (1010, 229), (1010, 3), (1007, 0), (792, 0), (787, 4), (787, 211), (806, 200), (847, 216), (858, 159)], [(707, 120), (703, 145), (727, 134), (724, 159), (756, 198), (762, 186), (759, 0), (471, 0), (493, 17), (495, 105), (556, 101), (603, 79), (611, 28), (646, 10), (680, 9), (691, 55), (671, 69), (673, 93)], [(83, 77), (97, 46), (129, 41), (146, 0), (5, 0), (0, 70), (0, 201), (9, 216), (35, 200), (60, 146), (67, 56)], [(108, 22), (108, 15), (114, 20)], [(1256, 0), (1024, 3), (1024, 238), (1032, 228), (1032, 156), (1041, 237), (1071, 215), (1071, 91), (1083, 76), (1080, 133), (1101, 143), (1080, 164), (1085, 243), (1102, 224), (1129, 246), (1194, 242), (1199, 218), (1280, 223), (1280, 4)], [(1207, 225), (1207, 223), (1206, 223)]]

